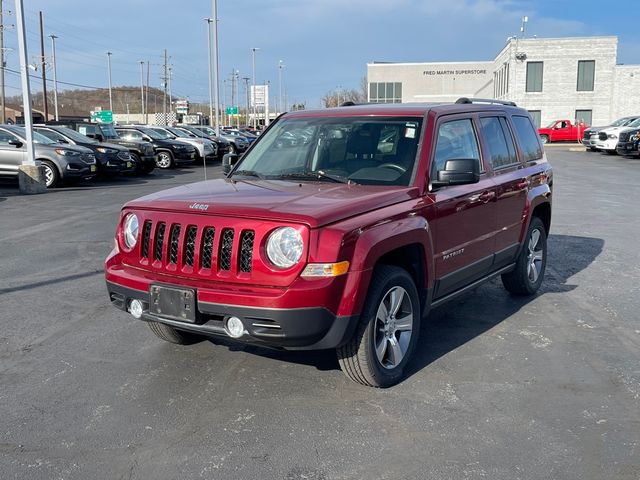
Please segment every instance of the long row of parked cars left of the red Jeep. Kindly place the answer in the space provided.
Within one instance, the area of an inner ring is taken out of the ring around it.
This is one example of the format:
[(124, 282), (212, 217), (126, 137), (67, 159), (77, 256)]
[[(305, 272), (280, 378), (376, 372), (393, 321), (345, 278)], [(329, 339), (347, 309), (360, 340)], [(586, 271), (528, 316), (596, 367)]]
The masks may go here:
[[(112, 125), (52, 122), (33, 127), (36, 160), (48, 188), (63, 182), (119, 174), (149, 174), (194, 162), (242, 155), (257, 138), (248, 129), (202, 125)], [(0, 176), (17, 177), (26, 156), (26, 131), (0, 125)]]

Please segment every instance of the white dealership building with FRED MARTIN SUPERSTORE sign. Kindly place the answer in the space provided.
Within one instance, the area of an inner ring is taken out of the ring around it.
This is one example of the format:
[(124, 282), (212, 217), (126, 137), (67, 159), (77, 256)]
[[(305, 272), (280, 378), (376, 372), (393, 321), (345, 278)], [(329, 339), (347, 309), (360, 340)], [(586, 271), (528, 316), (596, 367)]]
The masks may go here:
[(607, 125), (640, 114), (640, 65), (618, 65), (618, 38), (510, 38), (482, 62), (367, 64), (369, 101), (512, 100), (538, 125)]

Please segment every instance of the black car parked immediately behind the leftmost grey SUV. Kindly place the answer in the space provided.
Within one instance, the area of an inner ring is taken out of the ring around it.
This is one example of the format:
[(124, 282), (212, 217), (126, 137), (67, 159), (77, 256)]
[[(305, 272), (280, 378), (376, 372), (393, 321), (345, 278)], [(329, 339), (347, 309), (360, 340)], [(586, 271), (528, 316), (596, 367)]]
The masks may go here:
[(33, 130), (57, 143), (79, 145), (93, 152), (98, 162), (98, 174), (131, 173), (136, 161), (129, 149), (114, 143), (100, 143), (75, 130), (61, 125), (35, 125)]

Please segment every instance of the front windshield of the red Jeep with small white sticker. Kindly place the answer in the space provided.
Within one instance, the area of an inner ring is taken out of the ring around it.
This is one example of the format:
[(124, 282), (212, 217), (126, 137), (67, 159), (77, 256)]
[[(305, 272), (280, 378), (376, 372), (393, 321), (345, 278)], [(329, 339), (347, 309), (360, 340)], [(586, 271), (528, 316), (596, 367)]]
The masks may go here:
[(409, 185), (422, 118), (283, 119), (261, 136), (233, 176)]

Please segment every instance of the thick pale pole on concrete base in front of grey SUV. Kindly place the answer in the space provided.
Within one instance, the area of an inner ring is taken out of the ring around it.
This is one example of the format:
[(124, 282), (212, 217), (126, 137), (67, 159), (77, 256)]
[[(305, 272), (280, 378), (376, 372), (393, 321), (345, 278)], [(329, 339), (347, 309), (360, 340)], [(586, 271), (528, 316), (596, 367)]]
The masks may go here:
[(18, 49), (20, 53), (20, 78), (22, 81), (22, 105), (24, 115), (27, 155), (23, 157), (18, 170), (18, 182), (22, 193), (44, 193), (46, 186), (42, 167), (36, 166), (33, 151), (33, 117), (31, 114), (31, 89), (29, 85), (29, 56), (27, 55), (27, 35), (24, 28), (22, 0), (16, 0), (16, 24), (18, 26)]

